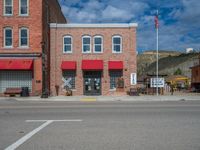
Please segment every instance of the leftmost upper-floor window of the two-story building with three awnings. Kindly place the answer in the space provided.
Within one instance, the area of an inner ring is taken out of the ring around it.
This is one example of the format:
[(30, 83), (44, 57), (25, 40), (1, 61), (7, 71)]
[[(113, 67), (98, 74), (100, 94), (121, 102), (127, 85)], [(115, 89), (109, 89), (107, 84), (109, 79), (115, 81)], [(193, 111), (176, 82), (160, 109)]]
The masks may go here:
[(63, 37), (63, 53), (72, 53), (72, 37)]

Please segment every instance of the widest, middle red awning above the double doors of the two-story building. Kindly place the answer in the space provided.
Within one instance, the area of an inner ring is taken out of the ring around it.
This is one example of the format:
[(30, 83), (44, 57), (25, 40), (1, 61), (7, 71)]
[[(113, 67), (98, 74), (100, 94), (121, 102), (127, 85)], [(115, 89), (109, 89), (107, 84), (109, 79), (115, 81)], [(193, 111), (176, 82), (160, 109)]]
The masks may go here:
[(103, 60), (82, 60), (83, 70), (103, 70)]

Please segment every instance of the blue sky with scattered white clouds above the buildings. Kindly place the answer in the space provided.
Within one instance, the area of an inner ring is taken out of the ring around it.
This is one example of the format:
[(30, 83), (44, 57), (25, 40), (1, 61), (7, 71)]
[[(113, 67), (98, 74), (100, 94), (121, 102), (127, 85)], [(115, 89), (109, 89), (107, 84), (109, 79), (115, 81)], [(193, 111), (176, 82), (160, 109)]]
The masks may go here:
[(158, 9), (160, 50), (200, 50), (199, 0), (60, 0), (60, 4), (69, 23), (138, 23), (139, 52), (156, 49)]

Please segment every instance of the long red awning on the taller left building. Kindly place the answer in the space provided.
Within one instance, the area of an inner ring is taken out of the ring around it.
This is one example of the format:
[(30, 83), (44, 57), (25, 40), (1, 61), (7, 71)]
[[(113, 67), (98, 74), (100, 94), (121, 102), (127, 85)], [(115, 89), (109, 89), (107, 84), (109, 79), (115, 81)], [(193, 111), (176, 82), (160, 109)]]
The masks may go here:
[(31, 59), (0, 59), (0, 70), (32, 70)]

